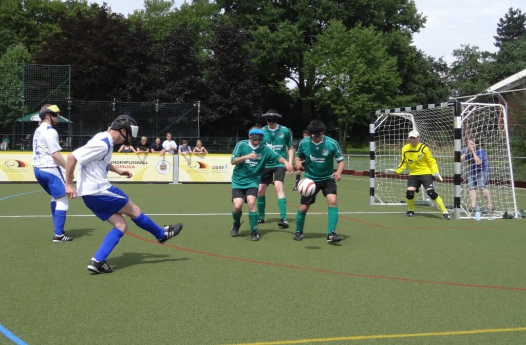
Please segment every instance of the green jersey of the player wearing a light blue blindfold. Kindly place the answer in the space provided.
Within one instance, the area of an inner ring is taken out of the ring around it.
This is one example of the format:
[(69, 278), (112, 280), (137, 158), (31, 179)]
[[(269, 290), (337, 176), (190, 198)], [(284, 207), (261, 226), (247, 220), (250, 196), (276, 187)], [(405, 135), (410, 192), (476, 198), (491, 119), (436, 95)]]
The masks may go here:
[(232, 188), (251, 188), (258, 187), (261, 175), (265, 170), (266, 164), (276, 164), (281, 156), (265, 145), (257, 147), (250, 146), (249, 140), (242, 140), (237, 143), (232, 152), (230, 163), (235, 158), (255, 153), (257, 159), (246, 159), (244, 162), (237, 164), (232, 172)]

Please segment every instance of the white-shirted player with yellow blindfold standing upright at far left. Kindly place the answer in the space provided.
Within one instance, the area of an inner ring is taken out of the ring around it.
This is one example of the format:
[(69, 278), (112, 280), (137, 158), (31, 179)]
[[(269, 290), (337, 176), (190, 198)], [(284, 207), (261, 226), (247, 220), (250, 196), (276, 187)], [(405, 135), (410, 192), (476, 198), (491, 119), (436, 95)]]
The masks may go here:
[(42, 123), (33, 135), (33, 167), (38, 183), (51, 196), (51, 216), (53, 218), (53, 242), (72, 241), (64, 234), (66, 212), (69, 206), (66, 196), (64, 176), (60, 167), (66, 168), (66, 161), (60, 155), (58, 133), (53, 128), (58, 123), (60, 109), (46, 104), (40, 110)]

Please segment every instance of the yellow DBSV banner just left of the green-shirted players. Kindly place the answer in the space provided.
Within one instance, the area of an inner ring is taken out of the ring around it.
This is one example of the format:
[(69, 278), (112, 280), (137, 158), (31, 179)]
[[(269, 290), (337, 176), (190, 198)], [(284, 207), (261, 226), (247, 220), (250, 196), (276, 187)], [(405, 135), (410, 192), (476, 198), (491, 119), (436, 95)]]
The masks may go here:
[(179, 155), (179, 182), (231, 182), (231, 155)]

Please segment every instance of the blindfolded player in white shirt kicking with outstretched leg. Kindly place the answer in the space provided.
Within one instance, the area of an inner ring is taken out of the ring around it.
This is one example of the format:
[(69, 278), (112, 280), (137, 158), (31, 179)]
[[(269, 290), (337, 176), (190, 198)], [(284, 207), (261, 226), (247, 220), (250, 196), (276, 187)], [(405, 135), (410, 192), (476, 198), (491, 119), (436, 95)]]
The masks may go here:
[[(112, 186), (108, 180), (108, 170), (127, 178), (132, 176), (131, 171), (117, 168), (112, 164), (112, 152), (114, 145), (123, 143), (129, 145), (130, 140), (137, 137), (138, 131), (139, 127), (135, 119), (129, 115), (120, 115), (113, 121), (108, 131), (96, 134), (86, 145), (77, 148), (68, 156), (66, 194), (70, 198), (82, 196), (84, 204), (98, 218), (113, 226), (89, 261), (88, 270), (94, 273), (113, 272), (106, 263), (106, 258), (128, 229), (123, 215), (130, 217), (139, 228), (154, 235), (159, 243), (164, 243), (178, 235), (183, 229), (181, 223), (161, 228), (131, 202), (122, 190)], [(77, 161), (80, 170), (75, 189), (73, 175)]]

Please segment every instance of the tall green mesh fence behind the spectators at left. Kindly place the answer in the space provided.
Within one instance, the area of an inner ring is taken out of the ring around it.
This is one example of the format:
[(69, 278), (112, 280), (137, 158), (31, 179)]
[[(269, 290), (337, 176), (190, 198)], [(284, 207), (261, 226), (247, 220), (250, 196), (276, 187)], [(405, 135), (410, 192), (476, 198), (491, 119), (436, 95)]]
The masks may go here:
[(133, 116), (139, 135), (150, 142), (172, 133), (177, 143), (199, 138), (199, 103), (116, 102), (77, 100), (71, 95), (70, 66), (0, 65), (0, 136), (11, 149), (31, 147), (30, 135), (44, 104), (56, 104), (65, 120), (57, 131), (65, 148), (76, 148), (106, 130), (121, 114)]

